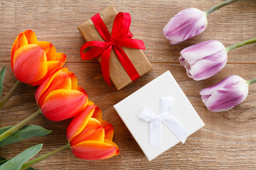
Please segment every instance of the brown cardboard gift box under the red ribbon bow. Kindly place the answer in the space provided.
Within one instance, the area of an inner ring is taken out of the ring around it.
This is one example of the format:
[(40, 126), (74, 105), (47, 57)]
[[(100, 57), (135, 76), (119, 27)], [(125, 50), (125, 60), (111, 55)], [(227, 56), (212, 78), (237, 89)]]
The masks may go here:
[[(117, 11), (114, 6), (109, 6), (98, 14), (100, 15), (100, 18), (102, 18), (102, 21), (105, 23), (105, 26), (107, 27), (109, 33), (112, 33), (114, 18), (117, 16)], [(97, 18), (97, 20), (100, 20), (101, 22), (100, 18)], [(96, 23), (99, 22), (96, 21)], [(119, 26), (117, 25), (116, 27)], [(102, 28), (102, 26), (100, 26), (99, 28)], [(86, 42), (95, 40), (105, 42), (105, 39), (102, 38), (102, 35), (100, 35), (98, 28), (95, 27), (95, 16), (94, 21), (92, 21), (92, 18), (90, 18), (89, 20), (85, 21), (85, 23), (82, 23), (80, 26), (78, 26), (78, 30), (80, 30), (80, 33), (82, 34), (83, 38), (85, 38)], [(127, 33), (131, 35), (131, 39), (134, 39), (132, 33), (130, 33), (129, 30)], [(127, 38), (126, 35), (124, 37)], [(122, 62), (121, 64), (119, 58), (117, 57), (117, 52), (112, 49), (109, 59), (109, 75), (112, 83), (114, 84), (114, 86), (116, 86), (117, 90), (124, 88), (128, 84), (131, 84), (132, 81), (135, 81), (137, 78), (141, 77), (143, 74), (146, 74), (146, 72), (149, 72), (153, 68), (150, 62), (146, 59), (146, 56), (144, 55), (144, 52), (142, 52), (142, 50), (124, 46), (122, 46), (122, 50), (125, 52), (125, 55), (127, 55), (131, 62), (130, 64), (132, 64), (132, 67), (134, 67), (135, 69), (134, 71), (129, 71), (131, 69), (128, 67), (128, 71), (137, 72), (137, 77), (131, 77), (129, 76), (129, 74), (127, 74), (127, 69), (124, 68), (124, 65), (127, 64), (129, 61), (125, 63)], [(97, 50), (95, 50), (95, 52), (97, 52)], [(102, 57), (99, 57), (98, 60), (102, 64)], [(103, 72), (103, 69), (102, 73), (103, 76), (107, 74)], [(108, 84), (110, 84), (110, 82)]]

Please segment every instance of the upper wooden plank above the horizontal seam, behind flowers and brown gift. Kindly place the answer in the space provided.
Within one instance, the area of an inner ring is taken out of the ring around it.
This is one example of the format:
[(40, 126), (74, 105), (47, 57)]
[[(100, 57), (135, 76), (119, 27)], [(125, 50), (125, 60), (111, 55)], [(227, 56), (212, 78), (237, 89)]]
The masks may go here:
[[(68, 61), (82, 61), (80, 47), (85, 40), (77, 26), (110, 4), (117, 11), (132, 16), (134, 37), (144, 40), (145, 54), (150, 62), (178, 62), (179, 52), (189, 45), (206, 40), (220, 40), (228, 47), (255, 37), (256, 1), (238, 1), (208, 16), (206, 30), (196, 38), (178, 45), (170, 45), (162, 30), (171, 17), (184, 8), (206, 11), (221, 1), (1, 1), (0, 52), (1, 62), (10, 61), (11, 45), (19, 32), (32, 29), (38, 40), (55, 45), (65, 52)], [(255, 63), (255, 45), (231, 51), (228, 62)]]

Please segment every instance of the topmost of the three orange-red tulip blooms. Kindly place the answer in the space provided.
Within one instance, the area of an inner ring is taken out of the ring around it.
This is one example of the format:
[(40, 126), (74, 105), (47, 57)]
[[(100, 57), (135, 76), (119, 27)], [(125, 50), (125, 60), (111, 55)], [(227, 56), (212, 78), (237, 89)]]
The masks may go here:
[(18, 81), (37, 86), (63, 67), (66, 56), (46, 41), (38, 41), (32, 30), (19, 33), (11, 48), (11, 69)]

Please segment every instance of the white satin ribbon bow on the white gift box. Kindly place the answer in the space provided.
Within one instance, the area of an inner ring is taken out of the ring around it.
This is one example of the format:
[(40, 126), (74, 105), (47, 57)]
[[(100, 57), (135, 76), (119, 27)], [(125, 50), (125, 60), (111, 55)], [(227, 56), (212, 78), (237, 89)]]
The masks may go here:
[(144, 108), (139, 118), (149, 122), (149, 139), (150, 144), (162, 149), (162, 127), (161, 122), (174, 133), (174, 135), (181, 140), (182, 143), (186, 141), (189, 132), (180, 121), (171, 116), (171, 110), (174, 103), (174, 98), (161, 98), (161, 112), (156, 115), (149, 108)]

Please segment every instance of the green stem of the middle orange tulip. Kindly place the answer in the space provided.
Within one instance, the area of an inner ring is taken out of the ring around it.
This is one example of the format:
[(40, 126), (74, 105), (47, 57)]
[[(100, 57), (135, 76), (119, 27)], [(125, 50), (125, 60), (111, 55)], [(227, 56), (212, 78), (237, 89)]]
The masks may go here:
[(9, 135), (13, 134), (14, 132), (18, 131), (19, 129), (21, 129), (23, 126), (28, 125), (28, 123), (33, 120), (34, 118), (36, 118), (36, 116), (38, 116), (41, 113), (41, 110), (39, 109), (38, 111), (36, 111), (35, 113), (33, 113), (32, 115), (28, 116), (28, 118), (22, 120), (21, 122), (19, 122), (18, 124), (14, 125), (12, 128), (10, 128), (9, 130), (6, 130), (5, 132), (3, 132), (0, 135), (0, 141), (4, 140), (6, 137), (9, 137)]

